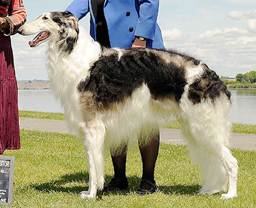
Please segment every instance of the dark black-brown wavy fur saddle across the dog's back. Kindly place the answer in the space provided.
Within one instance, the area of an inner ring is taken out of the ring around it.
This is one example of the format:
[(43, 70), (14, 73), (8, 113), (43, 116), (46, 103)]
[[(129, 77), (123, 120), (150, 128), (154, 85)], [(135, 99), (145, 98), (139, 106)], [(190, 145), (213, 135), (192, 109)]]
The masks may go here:
[(179, 103), (189, 84), (189, 99), (214, 102), (221, 93), (230, 98), (225, 84), (215, 72), (195, 58), (174, 51), (156, 49), (109, 50), (90, 68), (90, 76), (81, 81), (79, 92), (91, 92), (98, 106), (109, 108), (124, 102), (143, 84), (152, 100), (172, 99)]

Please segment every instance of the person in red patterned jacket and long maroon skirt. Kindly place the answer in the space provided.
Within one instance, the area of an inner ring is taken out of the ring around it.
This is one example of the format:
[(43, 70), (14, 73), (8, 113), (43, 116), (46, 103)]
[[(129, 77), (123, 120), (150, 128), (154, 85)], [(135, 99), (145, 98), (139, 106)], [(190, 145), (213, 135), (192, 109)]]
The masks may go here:
[(26, 21), (22, 0), (0, 0), (0, 154), (20, 148), (17, 81), (10, 35)]

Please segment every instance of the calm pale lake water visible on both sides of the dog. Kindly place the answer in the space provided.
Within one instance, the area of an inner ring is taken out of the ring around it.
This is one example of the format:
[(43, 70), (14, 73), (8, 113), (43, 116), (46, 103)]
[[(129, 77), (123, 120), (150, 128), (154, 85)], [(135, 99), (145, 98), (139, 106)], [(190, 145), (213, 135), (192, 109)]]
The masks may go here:
[[(234, 123), (256, 124), (256, 89), (230, 90), (231, 120)], [(60, 101), (51, 90), (19, 90), (19, 109), (63, 113)]]

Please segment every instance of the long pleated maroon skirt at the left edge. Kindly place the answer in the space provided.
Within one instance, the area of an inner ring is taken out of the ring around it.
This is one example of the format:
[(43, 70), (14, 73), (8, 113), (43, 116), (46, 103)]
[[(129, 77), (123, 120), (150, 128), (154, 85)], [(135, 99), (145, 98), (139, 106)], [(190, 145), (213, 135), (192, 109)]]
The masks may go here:
[(0, 154), (20, 148), (17, 95), (10, 36), (0, 33)]

